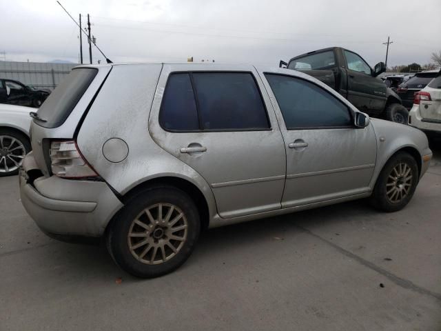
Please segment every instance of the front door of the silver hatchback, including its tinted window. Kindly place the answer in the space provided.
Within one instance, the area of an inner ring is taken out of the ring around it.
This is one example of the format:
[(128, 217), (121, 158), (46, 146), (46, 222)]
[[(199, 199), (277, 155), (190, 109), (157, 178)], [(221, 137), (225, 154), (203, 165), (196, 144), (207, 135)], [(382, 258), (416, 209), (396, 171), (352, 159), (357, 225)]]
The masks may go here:
[(282, 74), (265, 78), (282, 115), (287, 153), (282, 207), (369, 192), (376, 162), (372, 126), (355, 128), (348, 106), (311, 81)]

